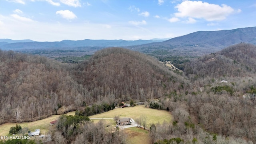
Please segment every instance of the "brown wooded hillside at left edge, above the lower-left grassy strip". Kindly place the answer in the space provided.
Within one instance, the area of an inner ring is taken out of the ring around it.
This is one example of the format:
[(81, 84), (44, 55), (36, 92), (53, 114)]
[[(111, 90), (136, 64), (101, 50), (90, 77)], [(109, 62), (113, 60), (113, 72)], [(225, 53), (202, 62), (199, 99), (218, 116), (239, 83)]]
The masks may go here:
[[(0, 51), (1, 123), (33, 121), (72, 105), (80, 86), (62, 63), (13, 51)], [(81, 88), (82, 89), (82, 88)]]

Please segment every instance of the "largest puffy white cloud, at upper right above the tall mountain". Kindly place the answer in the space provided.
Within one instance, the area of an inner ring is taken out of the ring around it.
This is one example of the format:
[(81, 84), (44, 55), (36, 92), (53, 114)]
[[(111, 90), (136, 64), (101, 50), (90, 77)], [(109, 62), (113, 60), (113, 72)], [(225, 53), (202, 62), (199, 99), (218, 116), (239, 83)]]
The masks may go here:
[(220, 6), (209, 4), (208, 2), (190, 0), (178, 4), (175, 8), (178, 9), (178, 12), (174, 14), (176, 17), (204, 18), (207, 21), (224, 20), (234, 12), (234, 9), (226, 4)]

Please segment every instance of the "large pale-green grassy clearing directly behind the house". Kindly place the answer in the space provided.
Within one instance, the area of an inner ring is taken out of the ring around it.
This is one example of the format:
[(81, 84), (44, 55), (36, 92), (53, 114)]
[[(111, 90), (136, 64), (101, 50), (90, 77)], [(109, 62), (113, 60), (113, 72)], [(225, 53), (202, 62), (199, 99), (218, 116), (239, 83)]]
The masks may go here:
[[(172, 122), (172, 115), (166, 110), (156, 110), (152, 108), (146, 108), (144, 105), (135, 106), (135, 107), (126, 107), (126, 108), (116, 108), (108, 112), (103, 112), (101, 114), (96, 114), (89, 116), (89, 118), (114, 118), (115, 116), (120, 116), (120, 118), (140, 118), (141, 115), (147, 116), (147, 126), (151, 124), (160, 123), (164, 121)], [(96, 120), (95, 120), (96, 122)]]

